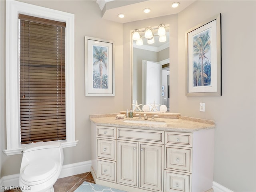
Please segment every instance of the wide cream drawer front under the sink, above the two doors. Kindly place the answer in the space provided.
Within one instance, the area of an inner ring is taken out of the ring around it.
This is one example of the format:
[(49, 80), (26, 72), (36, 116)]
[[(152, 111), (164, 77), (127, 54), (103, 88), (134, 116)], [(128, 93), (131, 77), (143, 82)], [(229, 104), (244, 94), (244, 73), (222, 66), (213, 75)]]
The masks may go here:
[(117, 128), (117, 138), (142, 142), (164, 144), (164, 131)]

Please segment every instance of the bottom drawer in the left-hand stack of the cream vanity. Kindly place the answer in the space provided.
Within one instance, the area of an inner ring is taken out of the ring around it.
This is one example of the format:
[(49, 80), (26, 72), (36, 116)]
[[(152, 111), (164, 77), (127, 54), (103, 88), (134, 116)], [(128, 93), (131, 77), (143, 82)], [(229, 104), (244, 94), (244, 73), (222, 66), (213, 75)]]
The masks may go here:
[(114, 161), (98, 161), (98, 178), (116, 182), (116, 162)]

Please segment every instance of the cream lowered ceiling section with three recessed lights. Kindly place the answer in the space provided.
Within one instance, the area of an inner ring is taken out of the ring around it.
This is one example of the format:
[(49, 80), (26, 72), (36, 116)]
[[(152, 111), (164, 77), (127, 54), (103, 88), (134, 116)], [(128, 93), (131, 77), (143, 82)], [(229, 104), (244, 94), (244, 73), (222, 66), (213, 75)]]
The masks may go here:
[[(195, 0), (96, 0), (102, 10), (102, 18), (119, 23), (133, 22), (148, 18), (177, 14)], [(171, 4), (179, 2), (180, 6), (172, 8)], [(150, 8), (150, 13), (144, 13), (144, 8)], [(118, 14), (124, 18), (118, 18)]]

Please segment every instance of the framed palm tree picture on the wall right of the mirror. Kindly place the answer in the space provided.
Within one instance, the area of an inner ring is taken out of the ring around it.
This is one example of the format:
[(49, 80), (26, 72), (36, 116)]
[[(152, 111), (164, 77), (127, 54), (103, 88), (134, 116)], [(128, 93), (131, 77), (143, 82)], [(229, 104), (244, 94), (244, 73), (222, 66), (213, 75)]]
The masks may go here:
[(221, 95), (221, 14), (186, 32), (186, 96)]

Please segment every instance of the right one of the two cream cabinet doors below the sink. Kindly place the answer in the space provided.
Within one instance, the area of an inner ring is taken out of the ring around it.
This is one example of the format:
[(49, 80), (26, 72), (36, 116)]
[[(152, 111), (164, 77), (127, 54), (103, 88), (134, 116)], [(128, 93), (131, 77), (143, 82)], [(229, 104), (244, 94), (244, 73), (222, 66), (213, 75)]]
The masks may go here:
[(162, 191), (164, 145), (140, 143), (140, 187)]

